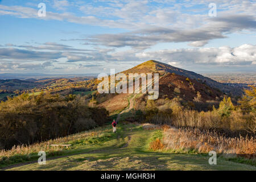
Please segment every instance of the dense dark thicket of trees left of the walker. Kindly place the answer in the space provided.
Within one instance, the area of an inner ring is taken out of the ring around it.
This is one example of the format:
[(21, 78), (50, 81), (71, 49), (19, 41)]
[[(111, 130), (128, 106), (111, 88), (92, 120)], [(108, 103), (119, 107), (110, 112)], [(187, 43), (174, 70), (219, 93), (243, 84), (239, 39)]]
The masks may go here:
[(22, 94), (0, 104), (2, 148), (63, 137), (103, 125), (108, 111), (90, 108), (84, 98)]

